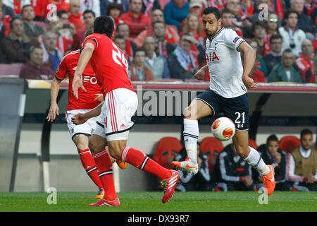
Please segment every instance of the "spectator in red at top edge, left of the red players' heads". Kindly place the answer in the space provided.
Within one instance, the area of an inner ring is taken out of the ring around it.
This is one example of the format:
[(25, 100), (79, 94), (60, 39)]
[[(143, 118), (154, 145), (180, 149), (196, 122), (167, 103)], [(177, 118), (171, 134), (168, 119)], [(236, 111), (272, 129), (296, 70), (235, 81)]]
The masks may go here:
[(76, 32), (86, 29), (82, 13), (80, 13), (80, 0), (70, 0), (68, 22), (75, 25)]

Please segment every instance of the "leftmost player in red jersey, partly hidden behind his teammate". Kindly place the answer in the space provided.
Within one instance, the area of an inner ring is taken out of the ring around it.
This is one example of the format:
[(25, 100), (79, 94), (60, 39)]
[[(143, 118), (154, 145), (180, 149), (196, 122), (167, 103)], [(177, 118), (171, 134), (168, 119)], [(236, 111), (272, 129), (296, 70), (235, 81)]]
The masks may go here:
[[(102, 95), (101, 88), (97, 84), (97, 78), (94, 76), (94, 71), (90, 64), (87, 64), (82, 76), (82, 80), (85, 83), (87, 93), (80, 90), (78, 100), (72, 95), (71, 85), (73, 82), (75, 69), (77, 68), (78, 59), (80, 58), (80, 51), (81, 49), (77, 49), (75, 51), (68, 52), (68, 54), (63, 57), (60, 65), (58, 66), (56, 76), (53, 80), (53, 83), (51, 84), (51, 107), (46, 119), (48, 121), (54, 121), (54, 119), (56, 119), (56, 115), (59, 114), (56, 98), (61, 85), (61, 81), (63, 81), (68, 75), (69, 88), (66, 121), (70, 136), (77, 147), (78, 154), (80, 155), (82, 166), (85, 168), (87, 174), (92, 179), (94, 184), (99, 187), (99, 194), (96, 197), (99, 199), (104, 197), (105, 192), (96, 170), (96, 163), (94, 162), (94, 158), (89, 151), (89, 148), (94, 148), (93, 145), (89, 144), (89, 136), (99, 136), (98, 133), (95, 134), (92, 132), (97, 126), (97, 117), (89, 119), (85, 122), (85, 124), (78, 126), (73, 124), (71, 118), (77, 113), (89, 112), (90, 109), (97, 107), (100, 102), (104, 101), (104, 97)], [(101, 134), (101, 136), (104, 135)], [(105, 147), (106, 143), (104, 144), (104, 148)], [(114, 159), (112, 159), (111, 162), (114, 162)], [(121, 169), (125, 168), (125, 162), (118, 161), (117, 163)]]

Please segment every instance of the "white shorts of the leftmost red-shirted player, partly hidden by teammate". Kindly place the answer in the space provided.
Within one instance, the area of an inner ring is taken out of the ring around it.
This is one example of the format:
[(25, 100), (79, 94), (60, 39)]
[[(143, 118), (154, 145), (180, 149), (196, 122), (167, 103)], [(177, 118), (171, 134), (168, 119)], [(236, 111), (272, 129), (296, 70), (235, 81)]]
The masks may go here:
[(75, 125), (72, 122), (72, 117), (75, 116), (75, 114), (82, 113), (85, 114), (86, 112), (89, 112), (91, 109), (75, 109), (71, 111), (66, 112), (66, 121), (68, 130), (70, 133), (71, 138), (77, 134), (84, 134), (87, 136), (92, 135), (92, 131), (97, 127), (97, 119), (98, 117), (93, 117), (91, 119), (88, 119), (84, 124)]

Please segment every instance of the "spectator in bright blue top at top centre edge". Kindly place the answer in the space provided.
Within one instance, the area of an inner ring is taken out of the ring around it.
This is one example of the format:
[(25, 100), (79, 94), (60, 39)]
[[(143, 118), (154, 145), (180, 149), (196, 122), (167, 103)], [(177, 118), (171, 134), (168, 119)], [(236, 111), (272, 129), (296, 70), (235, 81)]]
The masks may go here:
[(189, 13), (189, 3), (185, 0), (170, 0), (164, 8), (164, 18), (167, 25), (175, 25), (180, 30), (182, 20)]

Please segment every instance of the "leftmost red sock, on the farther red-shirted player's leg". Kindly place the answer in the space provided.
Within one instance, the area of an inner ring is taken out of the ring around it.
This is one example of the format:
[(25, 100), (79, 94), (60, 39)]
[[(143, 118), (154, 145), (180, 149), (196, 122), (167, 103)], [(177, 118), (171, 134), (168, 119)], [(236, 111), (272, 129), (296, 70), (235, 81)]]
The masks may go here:
[(80, 161), (82, 162), (82, 166), (85, 168), (90, 179), (92, 179), (94, 184), (96, 184), (99, 187), (99, 189), (102, 189), (102, 184), (100, 182), (98, 172), (96, 170), (96, 163), (94, 162), (94, 158), (90, 154), (89, 149), (80, 150), (78, 154), (80, 155)]

